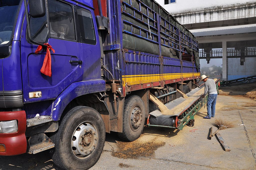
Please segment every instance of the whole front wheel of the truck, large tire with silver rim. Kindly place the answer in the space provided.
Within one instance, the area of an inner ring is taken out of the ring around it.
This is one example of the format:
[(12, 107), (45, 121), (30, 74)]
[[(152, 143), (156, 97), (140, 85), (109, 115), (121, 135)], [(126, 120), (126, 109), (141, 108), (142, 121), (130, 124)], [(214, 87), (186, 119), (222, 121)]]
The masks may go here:
[(100, 158), (105, 142), (105, 125), (95, 109), (77, 106), (62, 119), (52, 160), (61, 169), (89, 169)]

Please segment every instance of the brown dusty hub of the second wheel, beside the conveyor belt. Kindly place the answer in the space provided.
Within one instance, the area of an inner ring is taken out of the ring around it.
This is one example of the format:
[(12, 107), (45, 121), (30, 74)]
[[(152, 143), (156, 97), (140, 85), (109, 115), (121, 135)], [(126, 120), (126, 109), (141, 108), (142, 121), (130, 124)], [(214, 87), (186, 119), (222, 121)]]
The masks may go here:
[(137, 131), (142, 123), (142, 113), (141, 108), (138, 106), (135, 106), (132, 110), (131, 116), (130, 116), (130, 126), (133, 131)]

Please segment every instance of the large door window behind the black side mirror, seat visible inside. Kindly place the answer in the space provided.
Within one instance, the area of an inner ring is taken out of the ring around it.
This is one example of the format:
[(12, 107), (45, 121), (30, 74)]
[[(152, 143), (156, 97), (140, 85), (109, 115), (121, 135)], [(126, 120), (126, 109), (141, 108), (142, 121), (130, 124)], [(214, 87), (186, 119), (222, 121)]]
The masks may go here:
[(72, 7), (56, 0), (48, 0), (47, 2), (50, 36), (75, 40), (76, 35)]

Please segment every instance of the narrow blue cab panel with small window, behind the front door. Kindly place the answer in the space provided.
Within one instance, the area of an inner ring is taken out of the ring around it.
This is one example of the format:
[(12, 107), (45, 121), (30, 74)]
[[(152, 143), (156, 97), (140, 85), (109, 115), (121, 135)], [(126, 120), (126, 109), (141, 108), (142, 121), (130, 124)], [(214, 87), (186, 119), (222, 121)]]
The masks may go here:
[(80, 38), (83, 51), (83, 80), (100, 79), (100, 43), (93, 10), (77, 6)]

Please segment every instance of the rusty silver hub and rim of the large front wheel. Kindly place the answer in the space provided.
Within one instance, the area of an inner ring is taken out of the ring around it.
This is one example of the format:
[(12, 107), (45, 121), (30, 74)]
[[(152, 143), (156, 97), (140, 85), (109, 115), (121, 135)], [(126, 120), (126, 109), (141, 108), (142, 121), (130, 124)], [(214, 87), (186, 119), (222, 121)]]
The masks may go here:
[(71, 147), (78, 159), (88, 158), (98, 144), (98, 129), (94, 123), (85, 121), (77, 126), (73, 133)]

